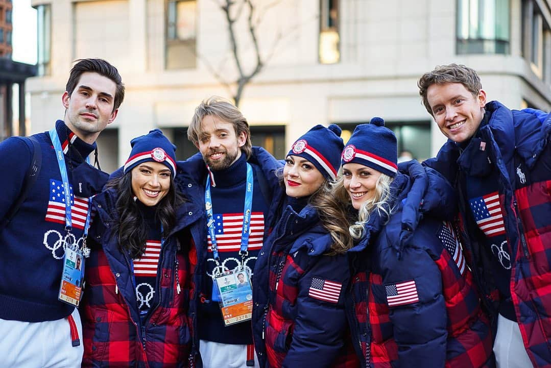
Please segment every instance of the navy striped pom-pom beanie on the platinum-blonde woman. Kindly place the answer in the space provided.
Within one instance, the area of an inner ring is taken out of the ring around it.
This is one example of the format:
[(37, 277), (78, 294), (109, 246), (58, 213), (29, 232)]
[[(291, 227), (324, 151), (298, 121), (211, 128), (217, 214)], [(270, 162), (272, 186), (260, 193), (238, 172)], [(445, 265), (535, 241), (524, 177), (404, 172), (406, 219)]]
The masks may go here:
[(342, 154), (343, 165), (361, 164), (390, 177), (398, 172), (397, 161), (396, 136), (380, 117), (356, 126)]

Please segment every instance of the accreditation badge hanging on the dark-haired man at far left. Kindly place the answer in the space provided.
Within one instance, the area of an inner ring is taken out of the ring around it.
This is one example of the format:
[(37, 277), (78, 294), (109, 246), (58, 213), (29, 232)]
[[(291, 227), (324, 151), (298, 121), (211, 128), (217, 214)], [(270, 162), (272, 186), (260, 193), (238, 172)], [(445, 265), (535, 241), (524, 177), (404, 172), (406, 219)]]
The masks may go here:
[(58, 299), (78, 307), (82, 297), (84, 255), (79, 250), (66, 248), (63, 256), (63, 275)]

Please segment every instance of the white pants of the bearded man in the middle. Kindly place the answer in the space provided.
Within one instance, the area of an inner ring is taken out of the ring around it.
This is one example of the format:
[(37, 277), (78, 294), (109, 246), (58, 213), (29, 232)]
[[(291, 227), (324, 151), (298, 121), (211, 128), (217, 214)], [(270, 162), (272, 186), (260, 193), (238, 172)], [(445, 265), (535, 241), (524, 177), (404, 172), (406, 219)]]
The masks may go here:
[[(230, 345), (200, 340), (199, 352), (203, 359), (203, 368), (250, 368), (247, 366), (247, 345)], [(258, 368), (256, 351), (255, 368)]]

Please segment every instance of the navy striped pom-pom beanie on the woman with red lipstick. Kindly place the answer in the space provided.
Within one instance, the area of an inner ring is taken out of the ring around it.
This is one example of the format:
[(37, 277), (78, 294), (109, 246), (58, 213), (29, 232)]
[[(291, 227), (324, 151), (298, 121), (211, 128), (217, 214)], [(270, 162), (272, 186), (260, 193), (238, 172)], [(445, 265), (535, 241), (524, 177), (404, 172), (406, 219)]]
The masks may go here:
[(341, 151), (344, 147), (341, 128), (331, 124), (327, 128), (316, 125), (300, 137), (287, 154), (300, 156), (321, 172), (323, 177), (335, 180), (341, 165)]

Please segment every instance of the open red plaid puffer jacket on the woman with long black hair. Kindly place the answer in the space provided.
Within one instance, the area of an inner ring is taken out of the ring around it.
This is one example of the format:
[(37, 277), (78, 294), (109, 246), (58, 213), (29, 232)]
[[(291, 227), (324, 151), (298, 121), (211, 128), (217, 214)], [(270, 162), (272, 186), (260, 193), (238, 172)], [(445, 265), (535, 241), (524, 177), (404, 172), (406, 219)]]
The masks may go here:
[[(91, 255), (85, 265), (85, 290), (80, 315), (83, 323), (83, 367), (187, 367), (191, 346), (187, 324), (187, 245), (169, 235), (159, 258), (155, 304), (141, 322), (128, 255), (118, 250), (110, 231), (114, 193), (94, 198), (98, 214), (90, 229)], [(197, 214), (197, 215), (193, 215)], [(199, 234), (195, 223), (201, 210), (186, 202), (177, 210), (171, 234), (185, 229)], [(179, 232), (178, 234), (181, 234)], [(188, 237), (188, 235), (186, 236)]]

